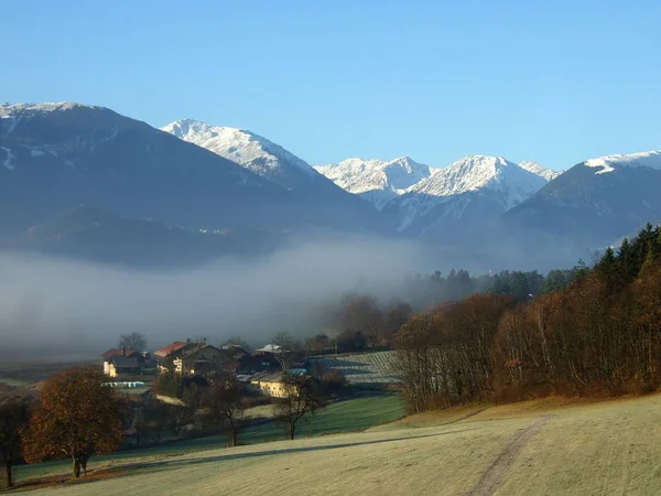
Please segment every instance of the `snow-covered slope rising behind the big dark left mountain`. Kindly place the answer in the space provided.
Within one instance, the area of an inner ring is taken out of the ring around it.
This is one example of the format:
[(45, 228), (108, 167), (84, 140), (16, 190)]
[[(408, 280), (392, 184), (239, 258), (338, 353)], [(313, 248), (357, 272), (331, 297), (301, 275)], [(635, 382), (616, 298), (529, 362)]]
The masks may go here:
[(161, 130), (206, 148), (285, 187), (292, 187), (301, 180), (313, 180), (318, 175), (307, 162), (279, 144), (245, 129), (182, 119)]

